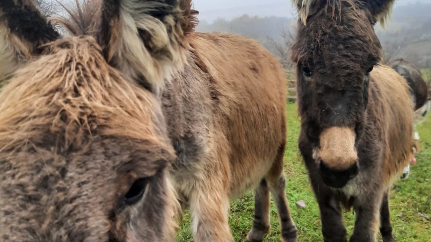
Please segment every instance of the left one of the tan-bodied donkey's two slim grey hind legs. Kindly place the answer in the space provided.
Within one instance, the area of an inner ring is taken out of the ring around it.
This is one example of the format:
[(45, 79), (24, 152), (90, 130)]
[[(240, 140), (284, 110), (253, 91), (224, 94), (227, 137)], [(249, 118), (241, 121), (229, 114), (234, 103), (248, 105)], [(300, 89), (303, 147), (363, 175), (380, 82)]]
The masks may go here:
[(255, 217), (253, 228), (248, 232), (247, 241), (259, 242), (269, 232), (269, 190), (263, 179), (255, 190)]

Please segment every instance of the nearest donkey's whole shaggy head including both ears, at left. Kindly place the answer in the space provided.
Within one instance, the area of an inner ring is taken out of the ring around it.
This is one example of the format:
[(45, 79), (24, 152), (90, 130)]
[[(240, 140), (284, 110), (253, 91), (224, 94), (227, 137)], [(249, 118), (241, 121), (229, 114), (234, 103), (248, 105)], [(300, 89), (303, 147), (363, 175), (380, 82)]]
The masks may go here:
[(0, 93), (2, 242), (174, 238), (174, 152), (152, 91), (184, 59), (188, 12), (178, 1), (100, 4), (64, 21), (75, 36), (47, 38), (21, 31), (54, 31), (32, 0), (0, 1), (0, 57), (43, 48)]

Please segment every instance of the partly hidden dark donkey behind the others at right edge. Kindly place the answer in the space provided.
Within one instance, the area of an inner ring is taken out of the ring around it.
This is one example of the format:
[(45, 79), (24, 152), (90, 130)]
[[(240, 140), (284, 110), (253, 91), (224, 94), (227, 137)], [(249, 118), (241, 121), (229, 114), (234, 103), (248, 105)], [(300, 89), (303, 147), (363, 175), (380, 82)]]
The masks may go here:
[[(431, 101), (428, 100), (427, 85), (422, 78), (422, 73), (415, 65), (403, 59), (397, 59), (391, 61), (388, 64), (392, 69), (398, 72), (410, 87), (410, 95), (413, 100), (415, 109), (414, 122), (414, 139), (416, 141), (416, 148), (419, 147), (419, 133), (416, 130), (416, 124), (424, 119), (426, 114), (429, 112)], [(416, 159), (413, 157), (412, 164), (416, 164)], [(407, 179), (410, 174), (410, 164), (407, 165), (403, 170), (402, 179)]]

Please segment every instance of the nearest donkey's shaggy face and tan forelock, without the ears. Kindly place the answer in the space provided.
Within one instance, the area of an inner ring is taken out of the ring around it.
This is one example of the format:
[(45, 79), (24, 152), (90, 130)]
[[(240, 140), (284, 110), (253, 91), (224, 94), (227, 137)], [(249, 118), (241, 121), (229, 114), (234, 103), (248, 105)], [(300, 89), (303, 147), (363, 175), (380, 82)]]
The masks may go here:
[(93, 37), (59, 38), (43, 54), (0, 93), (0, 240), (174, 239), (175, 156), (159, 100), (112, 68)]

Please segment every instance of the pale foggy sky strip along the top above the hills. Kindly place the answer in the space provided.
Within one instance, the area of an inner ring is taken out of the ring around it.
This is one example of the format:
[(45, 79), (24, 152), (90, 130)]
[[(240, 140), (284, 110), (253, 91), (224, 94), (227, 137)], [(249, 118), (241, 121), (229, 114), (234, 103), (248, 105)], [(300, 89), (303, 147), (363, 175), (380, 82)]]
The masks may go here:
[[(194, 0), (199, 19), (209, 22), (217, 18), (232, 19), (244, 14), (261, 17), (293, 17), (296, 9), (290, 0)], [(431, 3), (431, 0), (397, 0), (396, 6), (415, 2)]]

